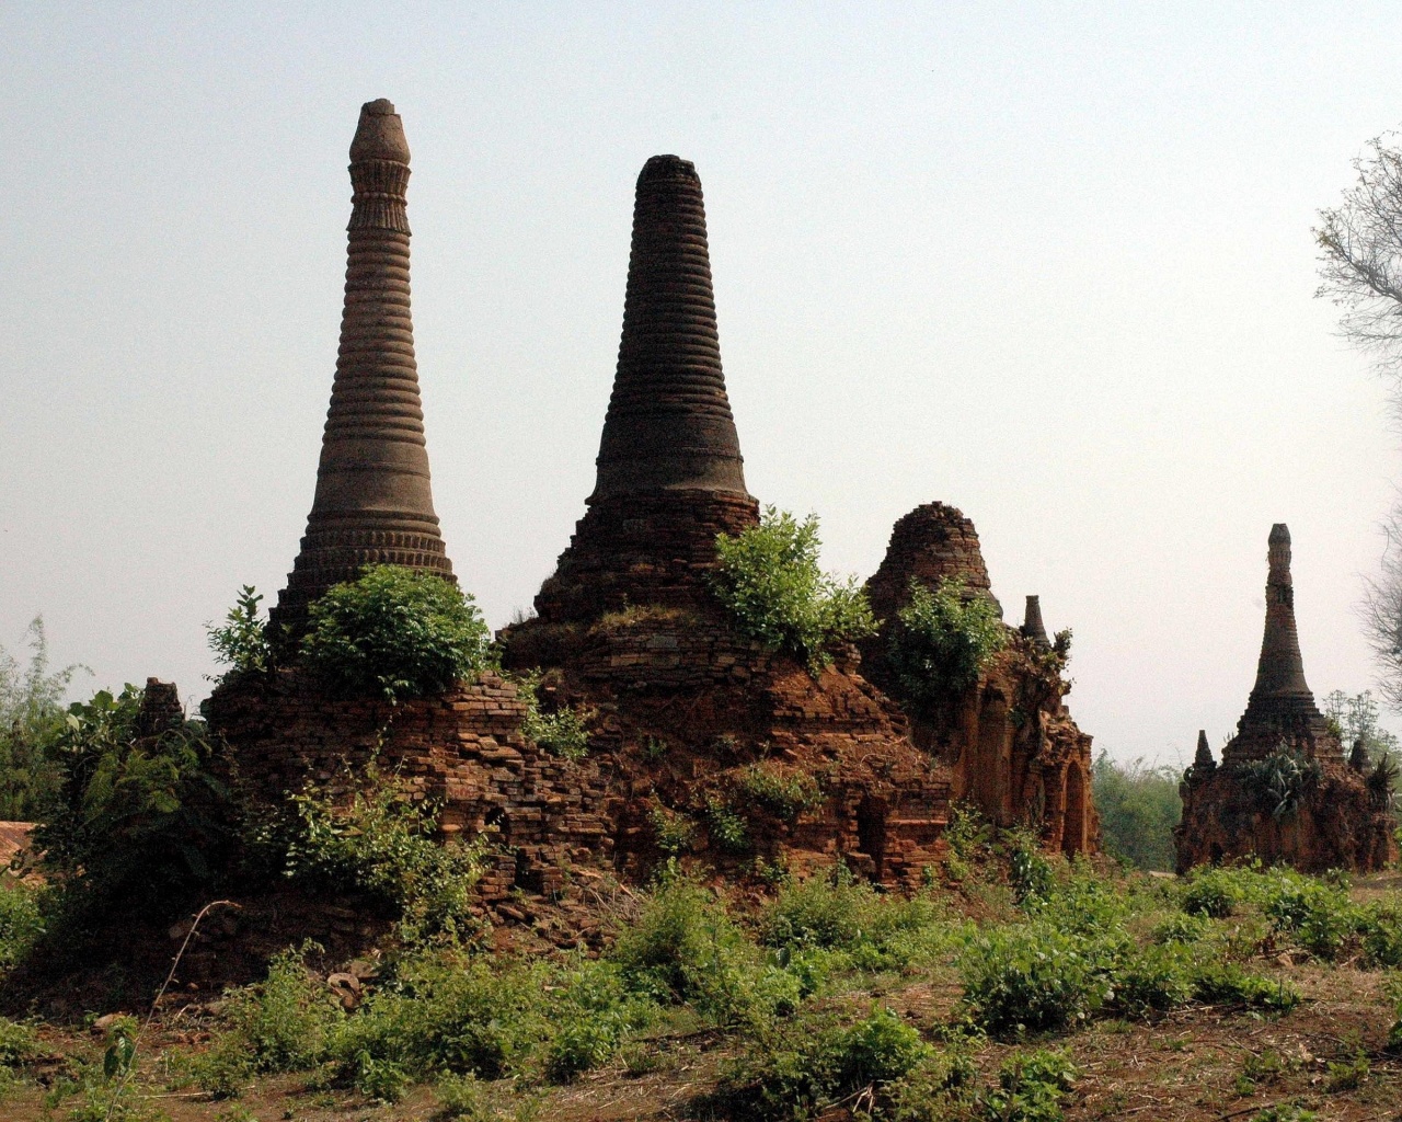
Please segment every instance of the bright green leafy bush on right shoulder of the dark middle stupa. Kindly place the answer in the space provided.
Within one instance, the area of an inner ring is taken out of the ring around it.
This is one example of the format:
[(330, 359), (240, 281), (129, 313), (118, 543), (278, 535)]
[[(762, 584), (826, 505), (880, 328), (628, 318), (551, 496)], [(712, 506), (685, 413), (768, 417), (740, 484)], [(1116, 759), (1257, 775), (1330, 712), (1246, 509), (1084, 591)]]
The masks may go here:
[(739, 627), (810, 669), (831, 662), (834, 642), (876, 631), (876, 619), (857, 578), (838, 581), (819, 564), (817, 515), (799, 522), (787, 511), (764, 509), (758, 526), (715, 540), (715, 595)]

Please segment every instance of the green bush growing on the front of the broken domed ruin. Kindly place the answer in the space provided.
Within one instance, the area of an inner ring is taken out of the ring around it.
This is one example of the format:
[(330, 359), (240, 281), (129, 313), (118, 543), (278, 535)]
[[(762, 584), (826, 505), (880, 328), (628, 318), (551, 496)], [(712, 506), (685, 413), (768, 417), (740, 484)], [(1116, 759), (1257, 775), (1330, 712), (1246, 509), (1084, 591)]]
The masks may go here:
[(887, 655), (903, 700), (934, 717), (979, 680), (1007, 641), (997, 609), (969, 593), (963, 581), (941, 581), (930, 589), (911, 579), (910, 602), (890, 628)]

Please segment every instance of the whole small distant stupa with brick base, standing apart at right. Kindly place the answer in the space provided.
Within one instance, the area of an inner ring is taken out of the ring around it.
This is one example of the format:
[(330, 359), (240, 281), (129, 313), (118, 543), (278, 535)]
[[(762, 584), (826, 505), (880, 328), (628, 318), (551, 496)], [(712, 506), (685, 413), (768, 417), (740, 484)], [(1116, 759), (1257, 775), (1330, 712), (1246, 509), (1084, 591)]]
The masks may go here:
[(1249, 857), (1305, 872), (1381, 870), (1394, 850), (1387, 792), (1371, 790), (1361, 759), (1345, 762), (1305, 683), (1284, 523), (1270, 527), (1267, 565), (1256, 684), (1220, 764), (1197, 734), (1179, 787), (1178, 871)]

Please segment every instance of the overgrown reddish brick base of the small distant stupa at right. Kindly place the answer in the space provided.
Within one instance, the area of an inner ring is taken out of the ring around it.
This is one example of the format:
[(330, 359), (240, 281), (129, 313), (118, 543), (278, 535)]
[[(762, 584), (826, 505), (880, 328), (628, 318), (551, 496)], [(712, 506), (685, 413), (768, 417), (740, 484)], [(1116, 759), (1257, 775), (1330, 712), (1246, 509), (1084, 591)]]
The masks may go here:
[(1377, 872), (1396, 857), (1392, 815), (1373, 806), (1361, 774), (1321, 759), (1318, 780), (1305, 785), (1298, 809), (1272, 815), (1269, 797), (1249, 790), (1241, 764), (1189, 769), (1182, 787), (1183, 818), (1173, 829), (1178, 871), (1195, 865), (1259, 858), (1301, 872)]

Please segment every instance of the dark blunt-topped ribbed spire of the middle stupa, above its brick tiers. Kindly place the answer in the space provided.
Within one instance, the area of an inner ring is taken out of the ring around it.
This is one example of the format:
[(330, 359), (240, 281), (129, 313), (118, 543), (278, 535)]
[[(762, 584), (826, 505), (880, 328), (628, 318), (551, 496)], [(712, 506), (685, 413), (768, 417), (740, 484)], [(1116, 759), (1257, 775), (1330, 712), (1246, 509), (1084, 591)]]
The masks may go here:
[(701, 180), (653, 156), (638, 175), (622, 338), (589, 502), (701, 489), (749, 498), (721, 370)]

